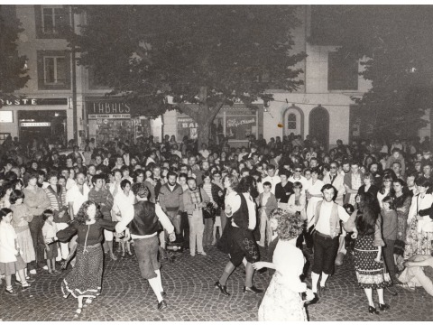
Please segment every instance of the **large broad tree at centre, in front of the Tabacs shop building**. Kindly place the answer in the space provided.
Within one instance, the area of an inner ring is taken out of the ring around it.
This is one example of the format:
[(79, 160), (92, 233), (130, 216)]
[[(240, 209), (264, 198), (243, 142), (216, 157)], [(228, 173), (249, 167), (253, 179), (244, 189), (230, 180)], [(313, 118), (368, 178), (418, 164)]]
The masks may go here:
[[(78, 64), (145, 116), (177, 108), (207, 143), (226, 104), (271, 100), (269, 88), (294, 90), (304, 53), (291, 54), (297, 26), (288, 5), (87, 5), (88, 21), (71, 44)], [(172, 98), (173, 105), (167, 101)], [(196, 105), (189, 105), (196, 104)]]

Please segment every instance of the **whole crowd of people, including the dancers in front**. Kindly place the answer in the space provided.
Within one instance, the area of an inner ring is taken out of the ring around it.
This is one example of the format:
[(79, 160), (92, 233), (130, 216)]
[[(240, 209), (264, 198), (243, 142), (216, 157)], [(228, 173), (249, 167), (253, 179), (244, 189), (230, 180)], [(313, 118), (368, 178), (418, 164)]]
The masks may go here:
[[(226, 296), (239, 265), (244, 292), (264, 291), (253, 284), (255, 270), (273, 274), (259, 320), (307, 320), (305, 305), (331, 294), (327, 279), (347, 261), (347, 251), (369, 313), (390, 308), (384, 292), (396, 294), (393, 285), (422, 286), (433, 295), (428, 139), (338, 140), (327, 151), (318, 139), (300, 135), (269, 143), (250, 136), (243, 147), (219, 137), (199, 148), (188, 137), (178, 142), (165, 135), (161, 143), (152, 136), (136, 144), (91, 139), (81, 149), (69, 142), (68, 149), (62, 154), (56, 142), (17, 138), (0, 147), (6, 294), (17, 294), (12, 275), (25, 291), (41, 272), (58, 276), (59, 265), (70, 265), (61, 289), (65, 298), (78, 299), (80, 313), (101, 293), (105, 256), (133, 255), (134, 245), (158, 310), (167, 307), (161, 260), (173, 249), (207, 255), (210, 246), (228, 254), (215, 283)], [(301, 281), (309, 255), (310, 289)]]

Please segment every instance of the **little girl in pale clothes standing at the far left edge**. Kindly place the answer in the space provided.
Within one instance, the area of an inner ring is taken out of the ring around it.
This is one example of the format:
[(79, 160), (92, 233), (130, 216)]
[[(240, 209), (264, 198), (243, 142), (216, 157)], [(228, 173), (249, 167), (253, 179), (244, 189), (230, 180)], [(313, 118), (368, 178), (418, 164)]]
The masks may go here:
[(22, 279), (22, 291), (30, 288), (30, 284), (25, 280), (22, 252), (14, 227), (11, 225), (12, 209), (0, 209), (0, 274), (5, 274), (6, 289), (5, 293), (10, 295), (18, 294), (12, 286), (12, 274), (19, 274)]

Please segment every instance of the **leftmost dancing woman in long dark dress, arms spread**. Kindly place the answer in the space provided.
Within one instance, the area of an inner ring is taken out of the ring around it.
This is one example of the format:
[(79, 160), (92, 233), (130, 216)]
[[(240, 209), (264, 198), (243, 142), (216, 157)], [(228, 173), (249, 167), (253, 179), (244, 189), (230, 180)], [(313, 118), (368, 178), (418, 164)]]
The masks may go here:
[(84, 297), (88, 298), (86, 303), (90, 303), (101, 292), (104, 265), (101, 242), (104, 238), (104, 229), (115, 231), (116, 224), (115, 221), (103, 219), (96, 203), (88, 200), (79, 208), (74, 222), (52, 238), (53, 241), (67, 242), (78, 234), (77, 262), (61, 283), (64, 298), (72, 294), (78, 299), (78, 314), (83, 308)]

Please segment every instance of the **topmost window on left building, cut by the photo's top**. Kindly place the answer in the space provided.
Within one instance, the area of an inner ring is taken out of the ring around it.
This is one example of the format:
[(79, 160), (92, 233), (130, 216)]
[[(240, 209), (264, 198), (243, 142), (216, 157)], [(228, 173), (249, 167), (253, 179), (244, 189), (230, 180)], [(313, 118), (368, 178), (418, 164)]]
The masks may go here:
[(62, 38), (65, 27), (70, 25), (67, 6), (35, 5), (34, 14), (38, 38)]

